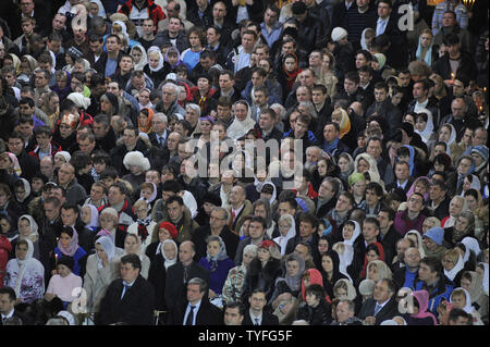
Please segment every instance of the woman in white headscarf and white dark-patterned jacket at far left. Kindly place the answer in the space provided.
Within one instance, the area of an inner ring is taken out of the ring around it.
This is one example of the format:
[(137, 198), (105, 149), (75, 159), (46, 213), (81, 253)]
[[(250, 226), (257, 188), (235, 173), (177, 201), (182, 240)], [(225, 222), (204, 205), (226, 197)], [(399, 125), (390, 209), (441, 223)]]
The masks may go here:
[(30, 239), (20, 240), (15, 249), (16, 258), (7, 263), (4, 286), (14, 288), (20, 302), (33, 303), (45, 294), (45, 267), (33, 258), (33, 253)]

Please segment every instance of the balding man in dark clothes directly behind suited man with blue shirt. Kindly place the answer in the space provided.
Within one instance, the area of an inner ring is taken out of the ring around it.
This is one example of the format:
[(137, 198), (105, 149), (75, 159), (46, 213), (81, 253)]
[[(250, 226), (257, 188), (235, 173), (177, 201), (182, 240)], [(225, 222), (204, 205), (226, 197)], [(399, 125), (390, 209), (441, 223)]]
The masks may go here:
[(206, 283), (209, 283), (208, 271), (193, 260), (195, 253), (196, 249), (194, 243), (183, 241), (179, 247), (180, 261), (167, 269), (166, 302), (169, 310), (185, 303), (183, 293), (191, 278), (199, 277), (205, 280)]

